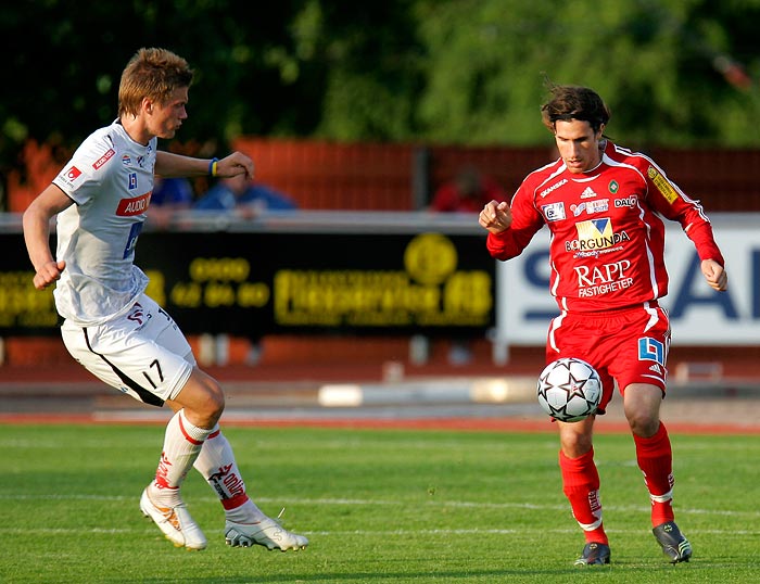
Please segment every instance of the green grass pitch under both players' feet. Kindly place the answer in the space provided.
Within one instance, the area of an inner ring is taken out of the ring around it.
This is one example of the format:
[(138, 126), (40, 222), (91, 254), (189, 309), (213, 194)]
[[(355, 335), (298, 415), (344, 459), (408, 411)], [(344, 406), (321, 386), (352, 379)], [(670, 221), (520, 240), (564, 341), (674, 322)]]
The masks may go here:
[(583, 537), (550, 433), (227, 428), (251, 496), (311, 539), (229, 548), (221, 506), (192, 472), (185, 499), (208, 547), (176, 549), (138, 509), (159, 426), (0, 428), (0, 582), (747, 583), (760, 574), (760, 441), (672, 435), (671, 566), (650, 531), (629, 435), (595, 439), (609, 567), (575, 568)]

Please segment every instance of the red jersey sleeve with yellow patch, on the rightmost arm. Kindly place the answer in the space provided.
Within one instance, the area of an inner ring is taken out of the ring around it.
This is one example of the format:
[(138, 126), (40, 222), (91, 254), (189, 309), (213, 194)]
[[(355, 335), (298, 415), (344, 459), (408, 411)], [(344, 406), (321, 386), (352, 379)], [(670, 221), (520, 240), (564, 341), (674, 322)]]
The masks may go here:
[(646, 169), (649, 204), (667, 219), (677, 221), (686, 237), (694, 243), (699, 259), (712, 259), (725, 265), (712, 225), (698, 201), (689, 199), (673, 183), (656, 164)]

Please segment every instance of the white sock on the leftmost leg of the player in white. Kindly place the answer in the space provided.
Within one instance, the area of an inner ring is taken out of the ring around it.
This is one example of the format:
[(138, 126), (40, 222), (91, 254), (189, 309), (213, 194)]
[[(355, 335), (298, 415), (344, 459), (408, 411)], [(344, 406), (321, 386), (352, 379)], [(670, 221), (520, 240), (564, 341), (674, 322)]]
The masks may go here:
[(179, 487), (201, 453), (211, 430), (198, 428), (177, 411), (166, 424), (164, 449), (161, 453), (150, 495), (154, 504), (173, 507), (181, 502)]

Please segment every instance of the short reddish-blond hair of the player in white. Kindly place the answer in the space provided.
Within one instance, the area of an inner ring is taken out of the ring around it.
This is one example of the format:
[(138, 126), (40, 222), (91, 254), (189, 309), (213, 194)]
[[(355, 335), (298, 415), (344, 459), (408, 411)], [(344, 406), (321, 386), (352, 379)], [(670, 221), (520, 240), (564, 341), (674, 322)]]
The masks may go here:
[(138, 115), (143, 98), (166, 103), (175, 89), (190, 87), (193, 72), (166, 49), (140, 49), (127, 63), (118, 86), (118, 116)]

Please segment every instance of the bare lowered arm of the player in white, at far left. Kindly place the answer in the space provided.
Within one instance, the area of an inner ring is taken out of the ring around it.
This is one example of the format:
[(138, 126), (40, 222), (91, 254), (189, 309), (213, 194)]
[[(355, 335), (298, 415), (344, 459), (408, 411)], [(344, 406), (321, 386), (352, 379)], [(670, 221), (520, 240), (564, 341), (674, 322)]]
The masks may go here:
[(35, 267), (34, 284), (37, 290), (48, 288), (61, 278), (65, 262), (56, 262), (50, 251), (50, 219), (74, 204), (55, 185), (50, 185), (24, 212), (24, 241), (31, 265)]

